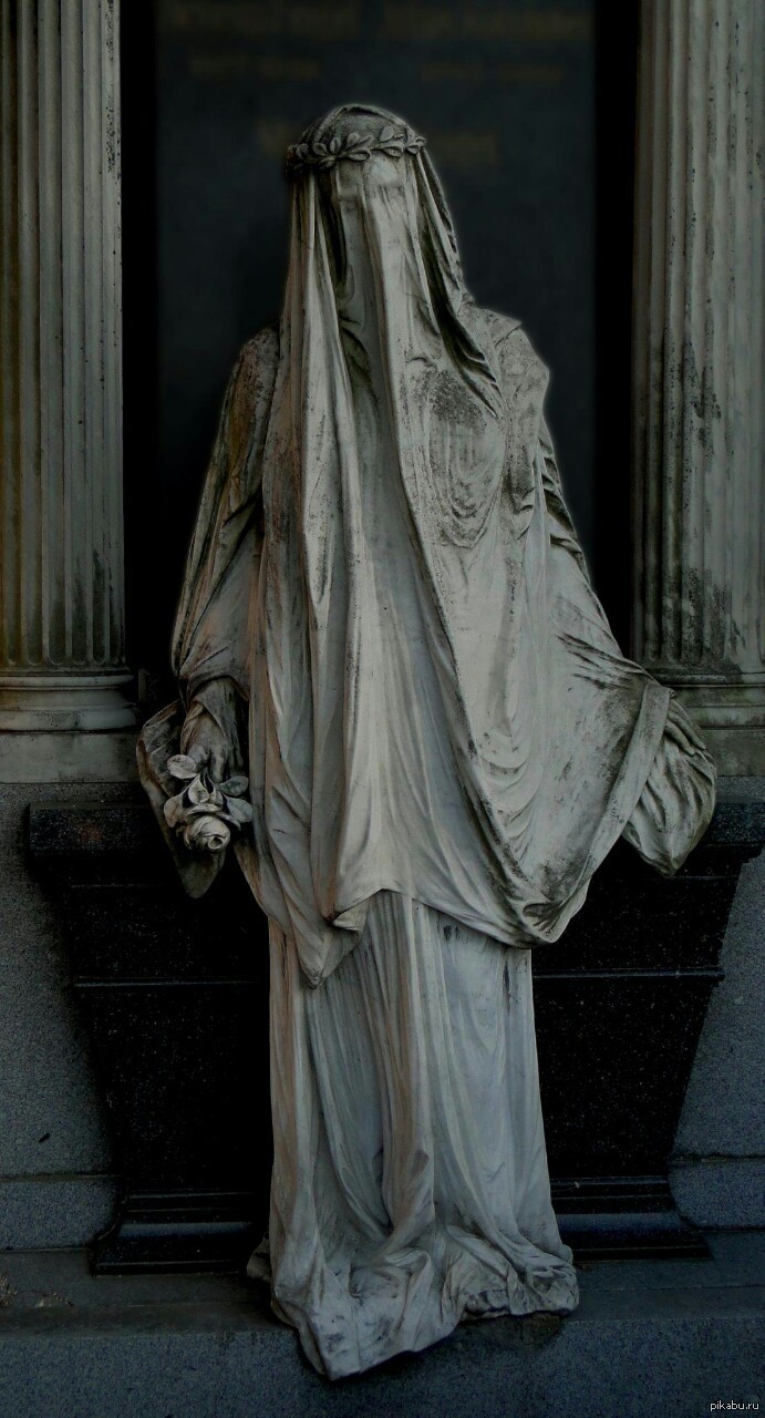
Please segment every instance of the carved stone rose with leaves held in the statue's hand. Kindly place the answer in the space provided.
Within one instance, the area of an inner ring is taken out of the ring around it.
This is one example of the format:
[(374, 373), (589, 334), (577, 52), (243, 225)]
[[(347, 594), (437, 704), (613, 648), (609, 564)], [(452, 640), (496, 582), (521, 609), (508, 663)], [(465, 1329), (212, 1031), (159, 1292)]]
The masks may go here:
[(249, 783), (244, 776), (214, 783), (207, 769), (200, 769), (186, 753), (169, 759), (167, 773), (184, 787), (167, 798), (164, 820), (191, 851), (221, 852), (231, 841), (231, 831), (252, 821), (252, 807), (245, 798)]

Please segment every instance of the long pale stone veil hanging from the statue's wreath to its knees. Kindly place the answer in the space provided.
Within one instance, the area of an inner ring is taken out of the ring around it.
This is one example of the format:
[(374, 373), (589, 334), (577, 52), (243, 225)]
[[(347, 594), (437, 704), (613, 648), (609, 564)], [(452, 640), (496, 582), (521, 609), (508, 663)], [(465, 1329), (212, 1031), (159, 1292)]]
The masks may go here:
[(176, 665), (190, 698), (230, 676), (249, 700), (239, 859), (313, 984), (381, 889), (557, 940), (649, 777), (670, 695), (592, 591), (545, 386), (517, 322), (465, 292), (424, 155), (296, 183), (282, 322), (227, 394)]

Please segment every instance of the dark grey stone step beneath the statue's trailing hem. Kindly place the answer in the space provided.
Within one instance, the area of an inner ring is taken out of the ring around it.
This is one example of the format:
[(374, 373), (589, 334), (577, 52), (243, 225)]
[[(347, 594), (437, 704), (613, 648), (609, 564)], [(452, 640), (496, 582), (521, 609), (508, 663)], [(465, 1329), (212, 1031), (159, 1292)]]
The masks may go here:
[[(330, 1384), (231, 1276), (99, 1276), (84, 1252), (0, 1258), (3, 1418), (676, 1418), (761, 1404), (765, 1236), (708, 1261), (581, 1271), (567, 1320), (460, 1326), (424, 1354)], [(727, 1411), (745, 1411), (744, 1408)], [(749, 1409), (756, 1411), (756, 1409)]]

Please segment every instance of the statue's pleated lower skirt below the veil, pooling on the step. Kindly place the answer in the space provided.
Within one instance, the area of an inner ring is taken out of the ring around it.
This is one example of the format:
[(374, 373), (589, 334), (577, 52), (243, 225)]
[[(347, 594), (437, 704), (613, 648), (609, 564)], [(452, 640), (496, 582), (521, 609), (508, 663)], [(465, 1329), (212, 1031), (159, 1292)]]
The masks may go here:
[(249, 1262), (330, 1378), (465, 1317), (567, 1313), (531, 960), (381, 892), (319, 990), (271, 927), (273, 1181)]

